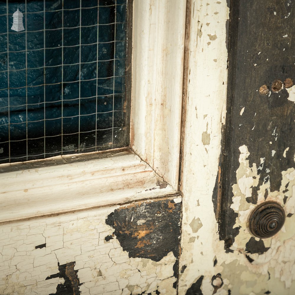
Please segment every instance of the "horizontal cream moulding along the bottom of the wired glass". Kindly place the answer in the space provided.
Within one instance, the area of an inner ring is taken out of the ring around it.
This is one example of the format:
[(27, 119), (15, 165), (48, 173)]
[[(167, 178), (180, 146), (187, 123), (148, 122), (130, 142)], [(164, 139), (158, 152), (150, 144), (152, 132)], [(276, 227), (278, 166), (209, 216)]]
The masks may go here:
[(116, 152), (1, 164), (0, 223), (176, 193), (131, 150)]

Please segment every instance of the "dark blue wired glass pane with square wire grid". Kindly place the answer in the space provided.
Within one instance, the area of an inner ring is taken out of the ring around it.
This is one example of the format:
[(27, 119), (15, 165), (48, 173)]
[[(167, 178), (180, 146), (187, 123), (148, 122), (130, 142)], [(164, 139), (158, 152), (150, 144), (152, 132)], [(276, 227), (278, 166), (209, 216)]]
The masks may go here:
[(128, 145), (126, 28), (126, 0), (0, 2), (0, 163)]

